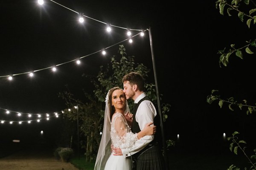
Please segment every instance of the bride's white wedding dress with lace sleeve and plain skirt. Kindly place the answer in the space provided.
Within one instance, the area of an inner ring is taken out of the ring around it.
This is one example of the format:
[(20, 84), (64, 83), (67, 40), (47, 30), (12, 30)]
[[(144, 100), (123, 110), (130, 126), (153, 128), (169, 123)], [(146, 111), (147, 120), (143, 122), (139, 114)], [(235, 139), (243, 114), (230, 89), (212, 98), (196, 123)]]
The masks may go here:
[[(131, 128), (122, 113), (114, 113), (111, 122), (111, 143), (114, 147), (129, 148), (137, 141), (137, 134), (131, 132)], [(111, 156), (105, 166), (105, 170), (131, 170), (131, 158), (124, 156)]]

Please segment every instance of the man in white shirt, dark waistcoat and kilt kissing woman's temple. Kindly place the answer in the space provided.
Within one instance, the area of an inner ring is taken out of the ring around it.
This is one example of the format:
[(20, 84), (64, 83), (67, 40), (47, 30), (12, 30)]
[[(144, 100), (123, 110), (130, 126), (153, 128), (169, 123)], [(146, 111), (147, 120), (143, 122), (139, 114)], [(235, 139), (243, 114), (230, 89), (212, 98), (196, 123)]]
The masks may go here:
[[(144, 92), (144, 79), (136, 72), (126, 74), (123, 79), (126, 99), (134, 100), (134, 115), (131, 130), (139, 133), (148, 122), (154, 122), (157, 111), (151, 99)], [(132, 148), (120, 149), (113, 147), (114, 155), (132, 156), (137, 160), (136, 170), (164, 170), (163, 155), (154, 136), (144, 136), (136, 141)]]

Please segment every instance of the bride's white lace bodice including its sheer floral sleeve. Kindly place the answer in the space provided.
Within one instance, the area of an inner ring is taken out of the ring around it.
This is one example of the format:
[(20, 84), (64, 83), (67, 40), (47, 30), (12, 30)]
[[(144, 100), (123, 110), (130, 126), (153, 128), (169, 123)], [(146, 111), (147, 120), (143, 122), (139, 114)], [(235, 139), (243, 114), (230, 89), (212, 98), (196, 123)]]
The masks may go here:
[(131, 147), (138, 140), (137, 134), (131, 132), (122, 113), (114, 113), (111, 122), (111, 143), (121, 149)]

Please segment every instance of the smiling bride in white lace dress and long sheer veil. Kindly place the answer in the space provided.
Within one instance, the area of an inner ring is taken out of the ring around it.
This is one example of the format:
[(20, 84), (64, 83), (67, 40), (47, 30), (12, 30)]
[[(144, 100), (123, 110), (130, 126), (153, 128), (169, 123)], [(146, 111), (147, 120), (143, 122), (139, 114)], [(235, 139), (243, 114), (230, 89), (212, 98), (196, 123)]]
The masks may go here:
[(103, 133), (94, 170), (131, 170), (131, 158), (113, 156), (111, 144), (114, 147), (129, 148), (143, 136), (153, 135), (156, 126), (150, 126), (153, 124), (151, 122), (139, 133), (131, 132), (132, 114), (129, 113), (125, 94), (119, 87), (108, 91), (105, 102)]

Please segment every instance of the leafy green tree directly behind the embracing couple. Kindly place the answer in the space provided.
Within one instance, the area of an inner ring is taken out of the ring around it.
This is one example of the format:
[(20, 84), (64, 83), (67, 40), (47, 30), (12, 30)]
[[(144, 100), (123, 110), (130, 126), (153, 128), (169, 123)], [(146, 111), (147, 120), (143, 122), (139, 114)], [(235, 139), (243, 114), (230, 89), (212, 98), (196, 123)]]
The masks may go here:
[[(124, 45), (119, 45), (118, 53), (119, 56), (111, 57), (111, 63), (107, 67), (100, 66), (100, 71), (96, 77), (86, 75), (83, 76), (90, 79), (93, 83), (95, 89), (93, 90), (93, 96), (85, 92), (85, 96), (89, 102), (83, 103), (78, 99), (74, 99), (70, 92), (62, 92), (60, 96), (65, 100), (68, 109), (64, 110), (64, 116), (70, 120), (75, 121), (79, 118), (79, 130), (81, 135), (87, 136), (87, 138), (82, 141), (82, 147), (86, 148), (87, 161), (91, 161), (96, 158), (99, 143), (100, 143), (100, 132), (103, 129), (103, 119), (105, 110), (105, 97), (109, 89), (119, 86), (122, 88), (122, 77), (131, 71), (139, 72), (145, 78), (145, 91), (149, 97), (151, 97), (152, 102), (157, 106), (157, 95), (154, 83), (146, 81), (148, 73), (150, 70), (141, 64), (135, 64), (134, 56), (128, 56)], [(84, 90), (85, 91), (85, 90)], [(160, 95), (162, 96), (162, 95)], [(134, 104), (132, 101), (128, 100), (130, 110), (133, 110)], [(74, 108), (77, 106), (78, 109)], [(164, 122), (167, 119), (167, 113), (170, 104), (162, 103), (162, 114)], [(95, 144), (96, 141), (96, 144)], [(174, 145), (175, 142), (168, 140), (169, 145)]]

